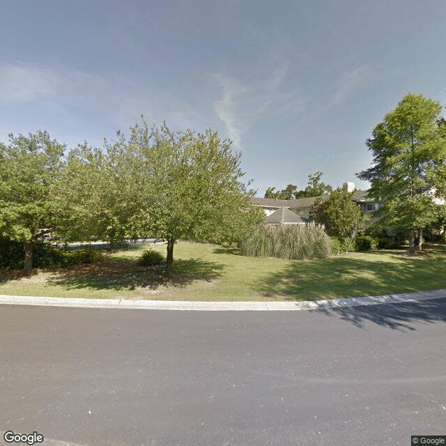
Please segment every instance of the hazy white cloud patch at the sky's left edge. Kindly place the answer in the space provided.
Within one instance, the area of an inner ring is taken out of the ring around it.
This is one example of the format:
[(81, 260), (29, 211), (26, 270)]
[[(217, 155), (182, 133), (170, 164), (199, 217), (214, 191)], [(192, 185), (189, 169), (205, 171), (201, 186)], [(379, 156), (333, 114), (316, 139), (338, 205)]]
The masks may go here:
[(56, 94), (65, 84), (61, 73), (31, 63), (0, 66), (0, 103), (34, 102)]

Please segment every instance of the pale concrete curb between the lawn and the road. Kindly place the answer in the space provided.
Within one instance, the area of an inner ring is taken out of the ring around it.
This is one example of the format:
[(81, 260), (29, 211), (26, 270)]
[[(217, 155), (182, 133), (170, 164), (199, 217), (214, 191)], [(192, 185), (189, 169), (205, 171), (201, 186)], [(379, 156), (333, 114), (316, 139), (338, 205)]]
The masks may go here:
[(427, 299), (446, 298), (446, 289), (417, 291), (390, 295), (367, 296), (330, 300), (304, 300), (299, 302), (197, 302), (169, 300), (118, 300), (118, 299), (76, 299), (45, 298), (25, 295), (0, 295), (0, 305), (40, 305), (45, 307), (114, 308), (114, 309), (167, 309), (195, 312), (277, 312), (357, 307), (387, 303), (418, 302)]

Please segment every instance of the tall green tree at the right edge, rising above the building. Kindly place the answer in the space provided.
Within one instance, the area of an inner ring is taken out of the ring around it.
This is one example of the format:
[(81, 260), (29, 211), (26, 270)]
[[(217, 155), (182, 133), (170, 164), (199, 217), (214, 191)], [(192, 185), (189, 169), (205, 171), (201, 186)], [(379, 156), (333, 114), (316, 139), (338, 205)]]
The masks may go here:
[[(436, 187), (445, 193), (446, 139), (440, 120), (441, 105), (409, 93), (367, 139), (372, 167), (357, 174), (371, 183), (369, 197), (383, 201), (378, 215), (392, 229), (409, 238), (436, 220), (438, 205), (426, 192)], [(443, 133), (442, 133), (443, 132)]]

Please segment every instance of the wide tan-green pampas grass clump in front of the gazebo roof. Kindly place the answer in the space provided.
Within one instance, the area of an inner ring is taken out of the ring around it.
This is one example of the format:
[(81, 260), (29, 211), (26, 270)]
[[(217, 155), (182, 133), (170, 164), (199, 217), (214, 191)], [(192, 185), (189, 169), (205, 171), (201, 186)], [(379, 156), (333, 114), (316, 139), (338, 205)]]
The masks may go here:
[(316, 224), (281, 224), (260, 226), (242, 245), (250, 257), (280, 259), (325, 259), (331, 254), (330, 237)]

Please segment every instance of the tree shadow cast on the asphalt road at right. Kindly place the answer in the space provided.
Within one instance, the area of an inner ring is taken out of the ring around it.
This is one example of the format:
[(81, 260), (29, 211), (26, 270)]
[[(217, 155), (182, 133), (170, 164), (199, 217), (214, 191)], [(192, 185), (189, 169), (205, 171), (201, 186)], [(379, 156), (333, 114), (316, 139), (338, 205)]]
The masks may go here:
[(446, 322), (446, 298), (385, 305), (362, 305), (312, 310), (318, 314), (336, 317), (364, 328), (367, 321), (381, 327), (402, 332), (414, 331), (413, 323)]

